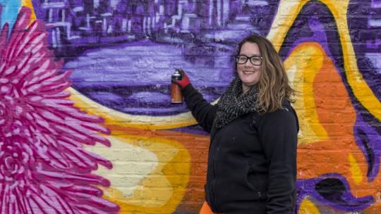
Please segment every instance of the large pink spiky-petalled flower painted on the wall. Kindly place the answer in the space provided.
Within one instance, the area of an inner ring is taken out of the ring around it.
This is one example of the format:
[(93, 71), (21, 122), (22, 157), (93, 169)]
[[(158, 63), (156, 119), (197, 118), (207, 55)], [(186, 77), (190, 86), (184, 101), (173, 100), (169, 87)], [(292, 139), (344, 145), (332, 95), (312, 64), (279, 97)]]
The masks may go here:
[(47, 49), (44, 24), (30, 24), (21, 8), (11, 34), (0, 34), (0, 209), (1, 213), (117, 213), (102, 199), (109, 180), (92, 174), (109, 160), (85, 151), (97, 142), (102, 118), (73, 106), (64, 90), (69, 71), (60, 72)]

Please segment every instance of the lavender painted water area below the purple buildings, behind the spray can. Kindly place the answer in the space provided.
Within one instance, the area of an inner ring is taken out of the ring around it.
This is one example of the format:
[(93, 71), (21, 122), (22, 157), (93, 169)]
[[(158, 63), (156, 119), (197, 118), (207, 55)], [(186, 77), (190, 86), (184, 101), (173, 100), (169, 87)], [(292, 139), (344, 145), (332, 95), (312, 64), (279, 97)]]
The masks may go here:
[(171, 103), (174, 68), (186, 70), (208, 101), (218, 99), (234, 75), (229, 52), (206, 48), (145, 40), (92, 49), (64, 66), (73, 70), (75, 88), (104, 106), (130, 114), (173, 115), (188, 111), (185, 103)]

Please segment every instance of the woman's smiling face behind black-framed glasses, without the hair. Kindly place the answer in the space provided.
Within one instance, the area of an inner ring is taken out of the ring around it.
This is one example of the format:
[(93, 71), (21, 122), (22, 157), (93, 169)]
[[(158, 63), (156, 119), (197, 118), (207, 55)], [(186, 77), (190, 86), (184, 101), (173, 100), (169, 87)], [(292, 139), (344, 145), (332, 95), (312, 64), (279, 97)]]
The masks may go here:
[[(261, 56), (258, 44), (253, 42), (245, 42), (241, 46), (241, 51), (239, 55), (244, 56)], [(254, 84), (257, 84), (260, 80), (260, 75), (262, 74), (262, 64), (253, 65), (250, 60), (244, 64), (237, 63), (237, 73), (239, 79), (241, 79), (243, 88), (250, 88)]]

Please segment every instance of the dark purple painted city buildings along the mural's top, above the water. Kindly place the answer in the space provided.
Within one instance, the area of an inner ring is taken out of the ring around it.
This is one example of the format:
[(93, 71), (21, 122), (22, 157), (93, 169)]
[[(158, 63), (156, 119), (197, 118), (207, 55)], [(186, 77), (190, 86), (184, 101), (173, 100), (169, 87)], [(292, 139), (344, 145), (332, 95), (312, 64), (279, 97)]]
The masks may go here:
[(60, 56), (92, 44), (138, 41), (236, 44), (250, 33), (270, 30), (279, 1), (111, 1), (32, 0), (49, 27), (49, 43)]

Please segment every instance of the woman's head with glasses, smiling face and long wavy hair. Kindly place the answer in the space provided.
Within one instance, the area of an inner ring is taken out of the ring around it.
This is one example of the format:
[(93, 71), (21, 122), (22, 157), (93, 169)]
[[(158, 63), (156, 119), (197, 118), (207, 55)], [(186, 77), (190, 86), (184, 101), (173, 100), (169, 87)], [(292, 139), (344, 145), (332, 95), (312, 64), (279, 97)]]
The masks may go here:
[(253, 86), (258, 89), (258, 111), (282, 108), (283, 99), (293, 102), (291, 96), (295, 91), (290, 87), (282, 59), (264, 37), (249, 36), (238, 44), (236, 70), (243, 94)]

